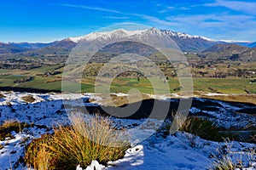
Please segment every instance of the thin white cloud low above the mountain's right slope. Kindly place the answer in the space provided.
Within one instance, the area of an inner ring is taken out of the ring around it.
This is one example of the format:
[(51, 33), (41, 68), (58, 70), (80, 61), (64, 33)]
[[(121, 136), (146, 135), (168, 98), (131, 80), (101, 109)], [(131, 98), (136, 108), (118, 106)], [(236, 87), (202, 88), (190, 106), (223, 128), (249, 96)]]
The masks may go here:
[(212, 39), (252, 40), (256, 36), (256, 21), (245, 14), (195, 14), (170, 16), (166, 20), (195, 35)]

